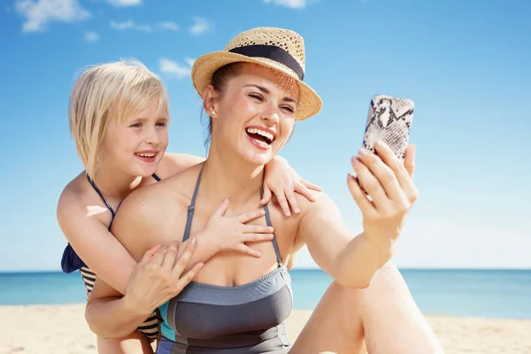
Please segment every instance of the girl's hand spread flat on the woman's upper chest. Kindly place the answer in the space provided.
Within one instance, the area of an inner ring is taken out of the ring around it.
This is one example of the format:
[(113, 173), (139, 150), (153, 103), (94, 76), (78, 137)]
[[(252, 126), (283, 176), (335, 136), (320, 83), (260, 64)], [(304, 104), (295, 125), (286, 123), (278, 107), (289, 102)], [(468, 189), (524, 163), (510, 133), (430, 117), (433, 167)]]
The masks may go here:
[(273, 240), (273, 227), (247, 225), (249, 221), (263, 217), (266, 213), (264, 208), (232, 217), (225, 216), (227, 208), (228, 199), (225, 199), (197, 235), (199, 242), (214, 246), (214, 253), (235, 250), (260, 257), (260, 251), (250, 248), (245, 242)]

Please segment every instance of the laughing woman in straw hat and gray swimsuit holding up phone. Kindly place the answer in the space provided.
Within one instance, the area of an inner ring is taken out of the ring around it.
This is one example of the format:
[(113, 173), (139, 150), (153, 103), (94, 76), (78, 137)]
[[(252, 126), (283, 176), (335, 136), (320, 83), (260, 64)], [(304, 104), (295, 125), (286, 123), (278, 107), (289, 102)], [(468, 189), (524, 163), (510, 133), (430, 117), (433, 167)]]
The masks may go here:
[[(300, 35), (269, 27), (237, 35), (226, 50), (196, 60), (192, 79), (212, 119), (208, 158), (127, 197), (113, 232), (140, 263), (126, 296), (116, 298), (119, 293), (96, 283), (86, 312), (96, 333), (126, 335), (158, 308), (161, 354), (348, 353), (365, 343), (370, 352), (441, 351), (396, 268), (388, 265), (417, 197), (412, 147), (404, 162), (384, 144), (377, 145), (378, 156), (360, 150), (353, 158), (372, 198), (350, 174), (363, 233), (354, 236), (344, 226), (324, 193), (313, 204), (300, 200), (301, 213), (289, 218), (278, 204), (266, 204), (265, 217), (253, 220), (274, 226), (272, 241), (253, 243), (262, 258), (216, 254), (179, 295), (168, 302), (158, 296), (189, 268), (196, 245), (208, 242), (199, 231), (215, 206), (224, 197), (232, 201), (227, 214), (258, 206), (264, 166), (288, 141), (296, 120), (319, 112), (319, 96), (302, 81), (304, 61)], [(179, 247), (175, 239), (183, 241)], [(169, 246), (144, 254), (159, 243)], [(292, 306), (286, 264), (304, 244), (335, 281), (291, 345), (284, 328)], [(154, 269), (165, 276), (154, 277)]]

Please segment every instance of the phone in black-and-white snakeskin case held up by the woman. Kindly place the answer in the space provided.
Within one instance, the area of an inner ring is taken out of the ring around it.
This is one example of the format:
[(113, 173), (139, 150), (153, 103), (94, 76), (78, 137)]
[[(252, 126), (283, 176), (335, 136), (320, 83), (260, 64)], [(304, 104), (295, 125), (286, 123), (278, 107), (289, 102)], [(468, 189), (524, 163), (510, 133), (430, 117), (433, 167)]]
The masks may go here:
[(412, 126), (412, 100), (373, 96), (367, 117), (363, 147), (374, 152), (374, 142), (386, 142), (398, 158), (404, 158)]

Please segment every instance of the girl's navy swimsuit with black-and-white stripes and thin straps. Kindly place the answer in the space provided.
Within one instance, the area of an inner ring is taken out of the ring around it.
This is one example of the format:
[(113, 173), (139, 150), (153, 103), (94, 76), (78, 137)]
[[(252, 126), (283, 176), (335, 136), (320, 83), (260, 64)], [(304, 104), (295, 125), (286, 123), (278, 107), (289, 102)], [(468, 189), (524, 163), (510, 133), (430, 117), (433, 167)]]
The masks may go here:
[[(160, 181), (160, 178), (157, 174), (153, 173), (152, 177), (156, 181)], [(97, 188), (96, 183), (92, 181), (89, 177), (89, 174), (87, 174), (87, 179), (90, 182), (90, 185), (94, 190), (96, 190), (96, 193), (102, 201), (104, 202), (107, 209), (109, 209), (109, 212), (111, 212), (112, 219), (111, 224), (109, 225), (109, 230), (111, 230), (112, 227), (112, 221), (114, 221), (114, 217), (116, 215), (116, 212), (112, 209), (111, 205), (107, 203), (107, 201), (104, 198), (104, 195), (102, 192)], [(119, 205), (118, 205), (119, 208)], [(116, 211), (118, 211), (118, 208), (116, 208)], [(94, 283), (96, 282), (96, 273), (92, 272), (90, 268), (85, 264), (85, 262), (82, 261), (82, 259), (75, 253), (75, 250), (73, 250), (70, 243), (66, 245), (65, 251), (63, 252), (63, 258), (61, 260), (61, 268), (63, 269), (64, 273), (72, 273), (76, 270), (79, 270), (81, 273), (81, 279), (83, 280), (83, 283), (85, 284), (85, 293), (87, 295), (87, 299), (89, 299), (90, 292), (94, 288)], [(158, 338), (158, 314), (157, 312), (153, 312), (150, 314), (150, 317), (146, 319), (142, 325), (138, 328), (136, 328), (139, 332), (142, 333), (142, 335), (145, 335), (150, 342), (155, 341)]]

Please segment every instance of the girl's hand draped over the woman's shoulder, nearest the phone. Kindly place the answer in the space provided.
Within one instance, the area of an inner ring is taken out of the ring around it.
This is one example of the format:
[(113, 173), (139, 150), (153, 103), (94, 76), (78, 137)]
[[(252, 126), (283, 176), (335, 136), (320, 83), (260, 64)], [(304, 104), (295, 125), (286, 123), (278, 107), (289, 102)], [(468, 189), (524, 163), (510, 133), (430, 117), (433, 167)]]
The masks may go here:
[(319, 186), (304, 181), (298, 173), (291, 168), (285, 158), (276, 156), (266, 165), (264, 196), (262, 197), (260, 204), (265, 205), (269, 203), (273, 193), (281, 205), (282, 211), (287, 217), (289, 217), (291, 216), (291, 211), (289, 210), (290, 205), (293, 212), (301, 212), (296, 201), (295, 192), (305, 196), (311, 202), (315, 201), (310, 189), (317, 191), (322, 190)]

